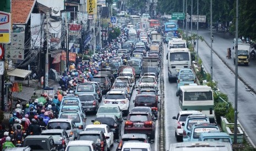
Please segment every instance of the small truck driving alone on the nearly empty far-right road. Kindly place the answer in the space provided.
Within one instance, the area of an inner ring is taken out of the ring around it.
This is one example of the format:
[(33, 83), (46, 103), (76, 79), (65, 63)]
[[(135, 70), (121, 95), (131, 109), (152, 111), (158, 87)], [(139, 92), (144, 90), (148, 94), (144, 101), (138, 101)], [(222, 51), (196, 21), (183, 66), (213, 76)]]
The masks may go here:
[[(233, 60), (234, 60), (234, 65), (236, 64), (236, 51), (233, 53)], [(238, 60), (237, 63), (244, 65), (249, 64), (249, 54), (250, 54), (250, 44), (248, 43), (238, 43), (238, 49), (237, 49), (237, 55), (238, 55)]]

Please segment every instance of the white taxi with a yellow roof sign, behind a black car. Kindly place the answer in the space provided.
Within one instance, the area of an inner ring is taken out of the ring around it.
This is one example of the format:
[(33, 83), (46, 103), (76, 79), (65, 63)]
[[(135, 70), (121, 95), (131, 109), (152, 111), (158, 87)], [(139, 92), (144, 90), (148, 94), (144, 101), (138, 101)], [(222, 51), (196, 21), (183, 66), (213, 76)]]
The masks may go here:
[(110, 147), (114, 144), (114, 134), (110, 130), (110, 127), (106, 124), (101, 124), (99, 121), (94, 121), (94, 124), (87, 125), (84, 131), (102, 131), (104, 132), (105, 137), (110, 137), (106, 140), (107, 148), (110, 149)]

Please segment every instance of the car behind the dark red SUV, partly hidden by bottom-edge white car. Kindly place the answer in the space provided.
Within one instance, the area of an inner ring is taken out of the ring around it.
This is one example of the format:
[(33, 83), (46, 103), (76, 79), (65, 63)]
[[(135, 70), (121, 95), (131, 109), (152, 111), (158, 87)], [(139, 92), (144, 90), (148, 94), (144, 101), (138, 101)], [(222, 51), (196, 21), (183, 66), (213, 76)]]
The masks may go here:
[(149, 138), (144, 133), (124, 133), (119, 140), (115, 140), (115, 143), (118, 143), (116, 151), (122, 150), (123, 144), (127, 142), (149, 143)]

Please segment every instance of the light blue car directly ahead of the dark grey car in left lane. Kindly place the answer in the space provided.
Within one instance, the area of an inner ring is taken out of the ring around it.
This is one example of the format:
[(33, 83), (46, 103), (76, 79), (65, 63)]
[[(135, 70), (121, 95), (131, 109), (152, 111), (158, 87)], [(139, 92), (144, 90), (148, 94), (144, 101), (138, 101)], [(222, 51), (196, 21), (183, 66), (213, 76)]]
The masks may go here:
[(97, 92), (97, 86), (95, 83), (91, 82), (85, 82), (85, 83), (80, 83), (77, 85), (77, 88), (75, 89), (74, 92), (76, 95), (79, 94), (94, 94), (97, 96), (97, 100), (100, 100), (99, 94)]

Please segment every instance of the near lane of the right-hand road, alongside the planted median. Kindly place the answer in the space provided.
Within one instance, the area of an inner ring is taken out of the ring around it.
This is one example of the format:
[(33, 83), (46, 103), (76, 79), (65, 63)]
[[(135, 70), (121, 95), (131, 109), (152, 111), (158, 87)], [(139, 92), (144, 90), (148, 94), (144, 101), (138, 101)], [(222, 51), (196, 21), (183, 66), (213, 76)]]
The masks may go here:
[[(204, 50), (204, 51), (200, 51)], [(210, 73), (210, 48), (205, 42), (199, 42), (199, 56), (203, 61), (203, 66)], [(239, 68), (239, 72), (241, 69)], [(224, 63), (213, 54), (213, 79), (217, 82), (221, 92), (228, 95), (229, 101), (235, 101), (235, 74), (228, 69)], [(247, 91), (246, 85), (238, 80), (238, 120), (242, 124), (253, 143), (256, 144), (256, 96)]]

